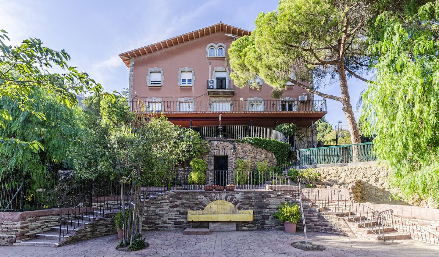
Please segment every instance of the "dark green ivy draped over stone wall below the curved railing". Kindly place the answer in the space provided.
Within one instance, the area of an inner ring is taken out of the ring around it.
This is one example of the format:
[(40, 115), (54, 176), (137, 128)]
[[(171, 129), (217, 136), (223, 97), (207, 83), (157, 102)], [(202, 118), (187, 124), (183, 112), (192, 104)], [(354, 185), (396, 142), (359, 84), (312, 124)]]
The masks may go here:
[(249, 143), (250, 145), (255, 145), (259, 148), (273, 152), (277, 159), (277, 165), (286, 163), (288, 161), (288, 157), (291, 156), (291, 146), (281, 141), (266, 138), (245, 138), (243, 141)]

